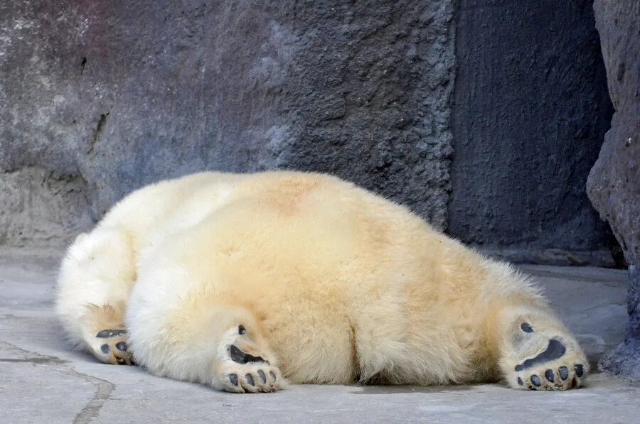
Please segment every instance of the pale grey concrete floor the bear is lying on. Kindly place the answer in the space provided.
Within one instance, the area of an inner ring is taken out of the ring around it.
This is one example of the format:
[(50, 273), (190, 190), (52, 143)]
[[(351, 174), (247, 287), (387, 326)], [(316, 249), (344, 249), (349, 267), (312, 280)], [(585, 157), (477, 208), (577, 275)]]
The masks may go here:
[[(0, 252), (0, 423), (640, 423), (640, 384), (593, 374), (564, 393), (476, 386), (291, 386), (235, 395), (72, 352), (53, 315), (57, 261)], [(622, 339), (626, 273), (523, 266), (592, 362)]]

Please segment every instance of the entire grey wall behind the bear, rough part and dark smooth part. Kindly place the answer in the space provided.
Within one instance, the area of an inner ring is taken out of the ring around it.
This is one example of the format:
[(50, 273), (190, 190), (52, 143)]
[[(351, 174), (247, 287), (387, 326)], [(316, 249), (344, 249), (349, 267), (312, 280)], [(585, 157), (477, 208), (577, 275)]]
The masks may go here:
[(162, 178), (299, 169), (509, 259), (612, 264), (587, 0), (5, 1), (0, 75), (0, 244)]

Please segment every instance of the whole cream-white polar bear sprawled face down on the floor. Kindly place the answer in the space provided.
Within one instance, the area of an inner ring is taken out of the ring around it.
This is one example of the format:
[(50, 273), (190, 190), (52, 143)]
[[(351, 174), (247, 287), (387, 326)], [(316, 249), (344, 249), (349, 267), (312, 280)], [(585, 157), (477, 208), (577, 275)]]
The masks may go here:
[(526, 276), (319, 173), (198, 173), (133, 192), (68, 249), (57, 311), (102, 362), (238, 393), (565, 390), (588, 373)]

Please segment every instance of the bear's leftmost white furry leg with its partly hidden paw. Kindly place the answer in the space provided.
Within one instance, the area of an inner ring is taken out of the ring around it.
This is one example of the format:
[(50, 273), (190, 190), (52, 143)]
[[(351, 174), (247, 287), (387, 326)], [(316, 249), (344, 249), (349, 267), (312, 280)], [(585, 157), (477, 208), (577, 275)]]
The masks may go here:
[(78, 236), (60, 267), (56, 309), (70, 342), (107, 364), (132, 364), (123, 318), (134, 263), (127, 233), (98, 228)]

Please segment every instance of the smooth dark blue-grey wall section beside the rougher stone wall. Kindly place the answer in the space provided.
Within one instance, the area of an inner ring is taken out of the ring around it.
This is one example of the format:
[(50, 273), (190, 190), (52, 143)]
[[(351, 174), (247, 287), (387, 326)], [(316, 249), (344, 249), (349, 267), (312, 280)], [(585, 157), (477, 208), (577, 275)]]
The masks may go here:
[(449, 232), (516, 261), (611, 264), (585, 193), (612, 114), (591, 1), (459, 8)]

